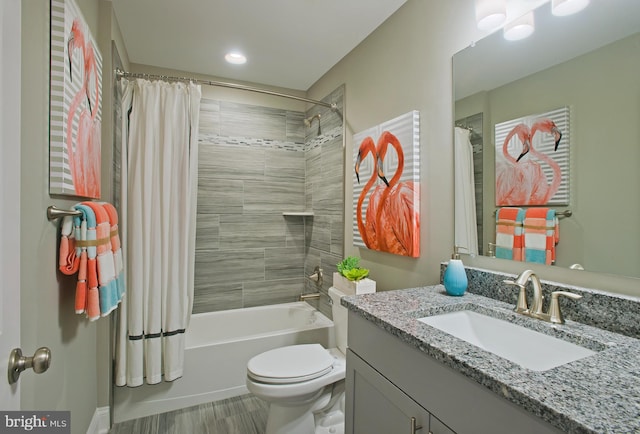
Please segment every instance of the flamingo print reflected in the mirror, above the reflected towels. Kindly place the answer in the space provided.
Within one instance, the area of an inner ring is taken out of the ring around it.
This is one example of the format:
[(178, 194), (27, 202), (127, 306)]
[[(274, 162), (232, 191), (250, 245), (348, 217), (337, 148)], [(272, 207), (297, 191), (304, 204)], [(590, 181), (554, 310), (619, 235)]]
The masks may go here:
[(569, 204), (569, 107), (495, 126), (496, 205)]

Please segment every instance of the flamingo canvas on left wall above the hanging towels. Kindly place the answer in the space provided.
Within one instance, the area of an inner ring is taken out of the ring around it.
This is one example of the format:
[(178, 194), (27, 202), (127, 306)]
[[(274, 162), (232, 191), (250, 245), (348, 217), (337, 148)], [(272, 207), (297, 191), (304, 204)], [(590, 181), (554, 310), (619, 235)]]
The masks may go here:
[(100, 198), (101, 75), (78, 5), (51, 0), (50, 194)]

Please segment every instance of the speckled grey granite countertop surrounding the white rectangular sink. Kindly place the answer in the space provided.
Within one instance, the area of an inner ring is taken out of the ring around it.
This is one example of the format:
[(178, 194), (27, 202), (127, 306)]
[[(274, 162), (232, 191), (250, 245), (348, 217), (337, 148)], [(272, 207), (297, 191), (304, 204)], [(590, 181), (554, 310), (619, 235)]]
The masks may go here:
[[(640, 340), (566, 321), (529, 318), (514, 305), (442, 285), (346, 296), (342, 304), (419, 351), (571, 433), (640, 432)], [(596, 351), (547, 371), (523, 368), (417, 320), (471, 309)]]

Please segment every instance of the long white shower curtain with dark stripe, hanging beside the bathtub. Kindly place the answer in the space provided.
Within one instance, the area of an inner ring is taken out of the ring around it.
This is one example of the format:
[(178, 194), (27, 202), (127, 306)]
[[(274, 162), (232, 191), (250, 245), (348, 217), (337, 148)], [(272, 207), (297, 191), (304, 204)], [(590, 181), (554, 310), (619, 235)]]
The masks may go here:
[(193, 305), (201, 90), (143, 79), (123, 79), (121, 86), (127, 294), (115, 382), (139, 386), (182, 376)]

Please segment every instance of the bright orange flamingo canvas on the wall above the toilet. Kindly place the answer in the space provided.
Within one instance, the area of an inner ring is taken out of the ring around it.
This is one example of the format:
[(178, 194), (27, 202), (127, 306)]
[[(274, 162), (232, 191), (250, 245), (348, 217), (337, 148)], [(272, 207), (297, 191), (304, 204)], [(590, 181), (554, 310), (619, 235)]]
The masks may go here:
[(353, 242), (420, 256), (420, 117), (411, 111), (353, 136)]

